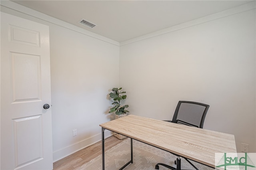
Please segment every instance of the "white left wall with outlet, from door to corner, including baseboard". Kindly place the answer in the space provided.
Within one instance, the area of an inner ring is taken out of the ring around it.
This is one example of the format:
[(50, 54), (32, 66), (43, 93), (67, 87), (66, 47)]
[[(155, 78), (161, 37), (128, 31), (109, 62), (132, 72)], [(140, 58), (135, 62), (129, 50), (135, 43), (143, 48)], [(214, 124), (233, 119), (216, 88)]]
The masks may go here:
[[(21, 7), (16, 10), (40, 17), (38, 12)], [(119, 46), (104, 37), (87, 36), (82, 29), (54, 18), (50, 20), (62, 26), (3, 6), (1, 11), (50, 27), (54, 162), (100, 141), (99, 125), (114, 119), (108, 113), (112, 106), (108, 93), (119, 86)], [(77, 129), (75, 137), (73, 129)], [(110, 135), (110, 131), (105, 135)]]

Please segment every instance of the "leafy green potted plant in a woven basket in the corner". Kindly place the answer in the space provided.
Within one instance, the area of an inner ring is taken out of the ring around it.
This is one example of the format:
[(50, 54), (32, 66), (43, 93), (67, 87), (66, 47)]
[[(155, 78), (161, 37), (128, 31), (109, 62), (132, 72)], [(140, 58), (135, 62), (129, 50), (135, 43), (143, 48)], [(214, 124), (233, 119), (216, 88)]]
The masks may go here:
[[(114, 100), (114, 102), (112, 103), (112, 105), (114, 105), (114, 106), (110, 109), (110, 111), (108, 113), (115, 112), (116, 119), (125, 117), (127, 115), (127, 112), (129, 112), (128, 110), (126, 110), (126, 108), (129, 107), (129, 105), (122, 106), (120, 104), (121, 100), (126, 99), (126, 95), (123, 95), (124, 93), (126, 93), (126, 91), (120, 92), (121, 89), (122, 89), (122, 87), (120, 87), (119, 89), (113, 88), (112, 89), (113, 93), (109, 93), (109, 96)], [(122, 134), (118, 134), (116, 132), (114, 132), (114, 136), (118, 139), (126, 138), (126, 136), (124, 136)]]

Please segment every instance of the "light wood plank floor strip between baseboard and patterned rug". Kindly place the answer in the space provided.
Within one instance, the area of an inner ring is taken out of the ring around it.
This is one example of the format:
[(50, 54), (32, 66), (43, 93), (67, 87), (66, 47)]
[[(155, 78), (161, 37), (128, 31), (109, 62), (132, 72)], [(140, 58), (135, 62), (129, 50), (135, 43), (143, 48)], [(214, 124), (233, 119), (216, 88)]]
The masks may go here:
[[(116, 144), (122, 142), (114, 136), (105, 140), (105, 150), (112, 148)], [(74, 170), (75, 168), (82, 166), (86, 162), (89, 162), (93, 158), (102, 154), (102, 142), (97, 142), (87, 148), (79, 150), (78, 152), (67, 156), (57, 162), (53, 163), (54, 170)]]

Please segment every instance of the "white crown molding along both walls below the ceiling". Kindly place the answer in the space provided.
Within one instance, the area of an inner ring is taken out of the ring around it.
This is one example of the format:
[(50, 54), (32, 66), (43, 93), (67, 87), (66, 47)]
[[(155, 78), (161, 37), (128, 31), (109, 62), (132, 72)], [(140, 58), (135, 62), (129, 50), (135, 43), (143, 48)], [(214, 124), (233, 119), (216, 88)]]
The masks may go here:
[(181, 30), (181, 29), (184, 29), (184, 28), (188, 28), (188, 27), (191, 27), (191, 26), (195, 26), (195, 25), (198, 25), (198, 24), (203, 24), (203, 23), (206, 23), (206, 22), (210, 22), (212, 20), (217, 20), (217, 19), (220, 19), (220, 18), (224, 18), (224, 17), (227, 17), (227, 16), (231, 16), (231, 15), (234, 15), (234, 14), (238, 14), (238, 13), (241, 13), (241, 12), (245, 12), (245, 11), (248, 11), (248, 10), (255, 9), (256, 8), (256, 1), (254, 0), (254, 1), (249, 2), (247, 4), (243, 4), (243, 5), (234, 7), (234, 8), (230, 8), (228, 10), (224, 10), (222, 12), (218, 12), (218, 13), (208, 15), (208, 16), (205, 16), (205, 17), (202, 17), (202, 18), (198, 18), (198, 19), (195, 19), (195, 20), (192, 20), (192, 21), (189, 21), (189, 22), (178, 24), (176, 26), (165, 28), (163, 30), (152, 32), (152, 33), (146, 34), (144, 36), (139, 36), (139, 37), (136, 37), (136, 38), (132, 38), (130, 40), (126, 40), (126, 41), (123, 41), (123, 42), (116, 42), (114, 40), (111, 40), (111, 39), (106, 38), (104, 36), (100, 36), (98, 34), (90, 32), (88, 30), (84, 30), (80, 27), (74, 26), (72, 24), (69, 24), (69, 23), (64, 22), (62, 20), (59, 20), (57, 18), (48, 16), (48, 15), (43, 14), (41, 12), (38, 12), (36, 10), (32, 10), (32, 9), (27, 8), (25, 6), (22, 6), (20, 4), (16, 4), (14, 2), (11, 2), (10, 0), (1, 0), (0, 1), (0, 6), (4, 6), (6, 8), (11, 9), (11, 10), (15, 10), (15, 11), (21, 12), (23, 14), (27, 14), (27, 15), (32, 16), (34, 18), (38, 18), (40, 20), (44, 20), (46, 22), (50, 22), (50, 23), (58, 25), (58, 26), (62, 26), (64, 28), (79, 32), (81, 34), (90, 36), (92, 38), (96, 38), (98, 40), (102, 40), (104, 42), (108, 42), (108, 43), (111, 43), (111, 44), (114, 44), (114, 45), (117, 45), (117, 46), (122, 46), (122, 45), (138, 42), (138, 41), (141, 41), (141, 40), (146, 40), (148, 38), (153, 38), (153, 37), (160, 36), (160, 35), (163, 35), (163, 34), (168, 34), (170, 32), (174, 32), (174, 31)]

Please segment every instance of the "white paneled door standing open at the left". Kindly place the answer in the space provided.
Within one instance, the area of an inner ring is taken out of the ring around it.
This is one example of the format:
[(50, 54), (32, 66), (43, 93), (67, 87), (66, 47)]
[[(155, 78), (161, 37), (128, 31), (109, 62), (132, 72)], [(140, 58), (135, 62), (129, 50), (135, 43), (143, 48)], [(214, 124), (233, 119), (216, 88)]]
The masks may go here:
[(0, 59), (0, 169), (52, 170), (49, 27), (1, 12)]

